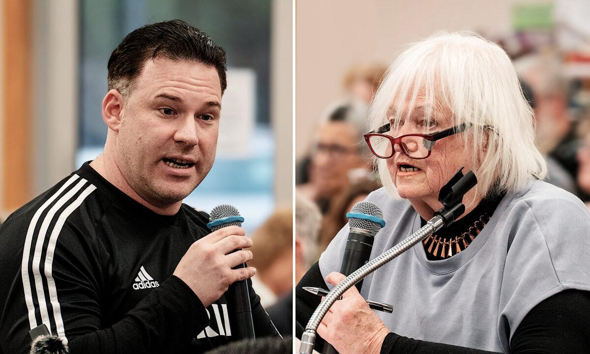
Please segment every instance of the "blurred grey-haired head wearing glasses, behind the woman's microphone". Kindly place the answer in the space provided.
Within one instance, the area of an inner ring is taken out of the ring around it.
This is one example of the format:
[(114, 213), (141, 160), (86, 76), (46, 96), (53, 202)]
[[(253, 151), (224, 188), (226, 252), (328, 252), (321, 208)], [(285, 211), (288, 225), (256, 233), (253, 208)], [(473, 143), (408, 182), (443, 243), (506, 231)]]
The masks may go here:
[(330, 110), (320, 123), (307, 169), (309, 181), (297, 190), (326, 212), (333, 197), (352, 181), (371, 171), (371, 152), (362, 143), (367, 119), (366, 106), (345, 101)]

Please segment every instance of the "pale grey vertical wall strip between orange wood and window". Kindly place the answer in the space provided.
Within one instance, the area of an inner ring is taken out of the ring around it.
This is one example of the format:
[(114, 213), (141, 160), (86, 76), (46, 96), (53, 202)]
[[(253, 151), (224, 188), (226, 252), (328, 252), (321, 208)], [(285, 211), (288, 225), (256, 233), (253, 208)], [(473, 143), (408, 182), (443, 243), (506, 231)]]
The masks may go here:
[(34, 0), (34, 140), (31, 142), (34, 195), (75, 168), (79, 16), (78, 1)]

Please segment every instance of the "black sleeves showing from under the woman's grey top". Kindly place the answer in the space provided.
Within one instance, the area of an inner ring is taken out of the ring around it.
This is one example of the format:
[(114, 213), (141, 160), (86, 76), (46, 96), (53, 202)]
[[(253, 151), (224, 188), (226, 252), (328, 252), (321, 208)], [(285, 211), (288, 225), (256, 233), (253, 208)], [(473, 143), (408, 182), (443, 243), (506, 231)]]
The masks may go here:
[[(320, 297), (303, 290), (304, 286), (328, 289), (316, 263), (305, 274), (296, 288), (296, 334), (301, 337), (307, 321), (320, 304)], [(582, 354), (590, 352), (590, 293), (565, 290), (533, 307), (525, 316), (510, 340), (510, 353)], [(444, 326), (444, 323), (441, 323)], [(466, 333), (465, 335), (468, 335)], [(317, 337), (316, 348), (321, 350), (323, 339)], [(389, 333), (381, 347), (381, 354), (489, 354), (485, 350), (463, 348), (442, 343), (425, 342)]]

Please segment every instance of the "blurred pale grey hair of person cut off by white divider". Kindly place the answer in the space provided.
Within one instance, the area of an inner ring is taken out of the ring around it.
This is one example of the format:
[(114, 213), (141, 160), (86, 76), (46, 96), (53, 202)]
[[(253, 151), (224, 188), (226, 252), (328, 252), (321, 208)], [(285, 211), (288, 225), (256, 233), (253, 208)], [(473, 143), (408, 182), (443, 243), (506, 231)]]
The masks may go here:
[(295, 192), (295, 235), (303, 241), (303, 263), (308, 268), (317, 258), (317, 234), (321, 222), (322, 214), (317, 205)]

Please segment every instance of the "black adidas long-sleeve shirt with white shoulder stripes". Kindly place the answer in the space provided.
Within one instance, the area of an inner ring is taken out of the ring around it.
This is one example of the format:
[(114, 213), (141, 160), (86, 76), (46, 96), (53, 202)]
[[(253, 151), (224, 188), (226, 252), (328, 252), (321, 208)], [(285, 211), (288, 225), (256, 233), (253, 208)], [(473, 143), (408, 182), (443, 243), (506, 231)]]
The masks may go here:
[[(225, 294), (205, 309), (172, 276), (207, 221), (184, 204), (156, 214), (85, 163), (0, 228), (0, 353), (27, 353), (41, 323), (72, 354), (199, 353), (239, 339)], [(248, 284), (256, 335), (277, 335)]]

